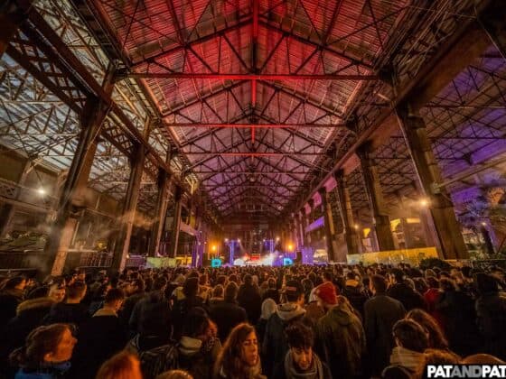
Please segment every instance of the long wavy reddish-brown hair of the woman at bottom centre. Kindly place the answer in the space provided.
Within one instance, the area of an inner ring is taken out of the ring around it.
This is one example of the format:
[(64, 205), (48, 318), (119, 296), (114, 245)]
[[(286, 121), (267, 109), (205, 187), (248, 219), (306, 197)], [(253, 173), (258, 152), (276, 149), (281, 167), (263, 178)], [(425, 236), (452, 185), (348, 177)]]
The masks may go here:
[[(242, 344), (251, 333), (255, 333), (255, 328), (246, 322), (239, 324), (230, 331), (230, 335), (225, 341), (214, 366), (215, 377), (220, 377), (221, 371), (228, 378), (249, 377), (250, 367), (246, 366), (242, 360)], [(260, 357), (258, 356), (258, 364), (259, 360)]]

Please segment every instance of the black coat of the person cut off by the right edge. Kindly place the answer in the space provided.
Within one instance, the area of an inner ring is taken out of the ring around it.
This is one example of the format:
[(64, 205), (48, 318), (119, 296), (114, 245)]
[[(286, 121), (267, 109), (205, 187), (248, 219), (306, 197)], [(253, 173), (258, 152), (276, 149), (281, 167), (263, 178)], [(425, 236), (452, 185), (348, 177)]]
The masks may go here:
[(484, 353), (506, 360), (506, 296), (485, 293), (476, 300), (478, 328), (484, 341)]

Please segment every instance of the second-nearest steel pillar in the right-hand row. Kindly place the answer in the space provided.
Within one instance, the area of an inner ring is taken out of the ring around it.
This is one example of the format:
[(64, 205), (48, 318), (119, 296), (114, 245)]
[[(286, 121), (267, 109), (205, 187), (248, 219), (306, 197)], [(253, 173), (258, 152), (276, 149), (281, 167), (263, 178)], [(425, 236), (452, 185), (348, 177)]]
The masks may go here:
[(361, 170), (372, 211), (379, 250), (395, 250), (394, 238), (390, 228), (390, 218), (385, 207), (381, 185), (379, 184), (378, 168), (374, 159), (370, 157), (370, 143), (362, 145), (356, 153), (361, 160)]

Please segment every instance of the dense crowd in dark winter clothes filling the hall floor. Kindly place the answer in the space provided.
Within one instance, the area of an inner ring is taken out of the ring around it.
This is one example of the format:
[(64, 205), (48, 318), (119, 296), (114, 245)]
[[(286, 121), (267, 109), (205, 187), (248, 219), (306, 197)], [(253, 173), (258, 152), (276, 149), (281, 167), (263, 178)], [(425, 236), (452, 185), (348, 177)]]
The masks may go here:
[(409, 264), (77, 271), (0, 286), (5, 378), (385, 379), (506, 360), (504, 272)]

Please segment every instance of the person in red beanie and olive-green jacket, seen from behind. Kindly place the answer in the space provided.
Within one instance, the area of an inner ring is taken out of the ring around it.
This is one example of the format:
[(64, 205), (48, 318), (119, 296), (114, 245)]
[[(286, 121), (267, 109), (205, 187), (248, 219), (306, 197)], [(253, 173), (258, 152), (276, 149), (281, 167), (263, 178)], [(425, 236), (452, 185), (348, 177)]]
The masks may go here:
[(315, 329), (316, 352), (329, 365), (333, 377), (353, 378), (362, 374), (365, 332), (361, 320), (346, 298), (338, 301), (332, 282), (323, 282), (314, 291), (325, 315)]

